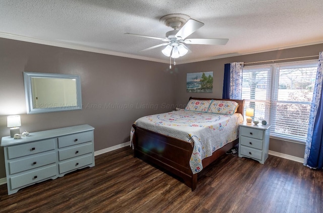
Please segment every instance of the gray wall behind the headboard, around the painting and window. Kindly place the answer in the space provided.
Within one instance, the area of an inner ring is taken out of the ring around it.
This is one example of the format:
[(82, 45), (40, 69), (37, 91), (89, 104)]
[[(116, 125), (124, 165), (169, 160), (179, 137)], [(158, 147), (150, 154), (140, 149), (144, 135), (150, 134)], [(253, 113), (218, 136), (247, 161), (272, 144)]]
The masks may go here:
[[(318, 53), (321, 51), (323, 51), (323, 44), (317, 44), (317, 45), (283, 49), (283, 50), (277, 50), (277, 51), (242, 55), (242, 56), (236, 56), (236, 57), (228, 57), (228, 58), (200, 61), (200, 62), (194, 62), (194, 63), (180, 64), (177, 66), (178, 68), (178, 75), (177, 75), (177, 82), (176, 82), (177, 104), (179, 105), (186, 104), (190, 96), (202, 97), (202, 98), (222, 98), (225, 63), (230, 63), (230, 62), (247, 63), (247, 62), (285, 59), (285, 58), (294, 58), (294, 57), (303, 57), (303, 56), (312, 56), (312, 55), (317, 55), (317, 57), (314, 57), (314, 58), (318, 58)], [(306, 59), (314, 59), (314, 58), (306, 58)], [(305, 60), (305, 59), (292, 59), (292, 60), (284, 60), (280, 62), (297, 61), (297, 60)], [(266, 62), (266, 63), (270, 63), (270, 62)], [(257, 64), (261, 64), (261, 63), (257, 63)], [(213, 72), (213, 93), (187, 93), (186, 74), (195, 73), (195, 72), (208, 72), (208, 71)], [(269, 149), (275, 152), (303, 158), (305, 145), (271, 138)]]

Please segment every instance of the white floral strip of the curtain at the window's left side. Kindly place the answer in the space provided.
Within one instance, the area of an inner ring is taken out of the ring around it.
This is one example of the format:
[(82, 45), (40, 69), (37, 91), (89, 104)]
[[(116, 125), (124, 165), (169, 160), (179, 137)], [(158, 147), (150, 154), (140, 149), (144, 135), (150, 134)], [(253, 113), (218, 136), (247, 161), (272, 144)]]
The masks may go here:
[(241, 100), (243, 62), (230, 63), (230, 99)]

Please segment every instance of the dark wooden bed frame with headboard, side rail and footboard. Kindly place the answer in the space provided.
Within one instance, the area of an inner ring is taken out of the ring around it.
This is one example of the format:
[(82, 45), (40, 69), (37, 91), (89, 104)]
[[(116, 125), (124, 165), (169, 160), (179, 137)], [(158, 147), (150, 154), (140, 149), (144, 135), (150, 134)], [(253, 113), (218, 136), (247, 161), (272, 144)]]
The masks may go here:
[[(192, 98), (189, 100), (228, 100), (228, 99), (214, 99), (214, 98)], [(243, 115), (243, 107), (245, 100), (231, 100), (239, 104), (238, 113)], [(164, 134), (156, 133), (135, 124), (132, 125), (135, 129), (133, 135), (134, 157), (140, 158), (144, 161), (151, 162), (172, 174), (183, 179), (184, 183), (192, 188), (196, 188), (197, 173), (193, 174), (190, 168), (190, 158), (193, 152), (193, 143), (170, 137)], [(153, 143), (151, 143), (153, 141)], [(202, 160), (203, 168), (225, 154), (238, 144), (238, 139), (234, 140), (213, 152), (212, 156)], [(163, 152), (160, 152), (163, 150)]]

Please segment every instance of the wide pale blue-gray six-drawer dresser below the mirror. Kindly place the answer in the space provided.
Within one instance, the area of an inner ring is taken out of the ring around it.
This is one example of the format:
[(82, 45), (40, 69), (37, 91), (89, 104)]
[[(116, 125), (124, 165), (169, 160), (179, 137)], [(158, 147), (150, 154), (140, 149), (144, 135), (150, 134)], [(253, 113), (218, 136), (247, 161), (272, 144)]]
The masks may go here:
[(3, 137), (8, 194), (77, 169), (93, 167), (93, 130), (84, 124), (31, 132), (21, 139)]

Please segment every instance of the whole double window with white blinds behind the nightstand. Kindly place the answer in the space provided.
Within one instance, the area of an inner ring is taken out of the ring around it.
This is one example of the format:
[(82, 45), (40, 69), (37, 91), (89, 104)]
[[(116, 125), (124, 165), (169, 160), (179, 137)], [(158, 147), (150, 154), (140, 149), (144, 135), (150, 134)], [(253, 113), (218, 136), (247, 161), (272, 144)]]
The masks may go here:
[(272, 124), (271, 136), (305, 142), (316, 71), (316, 60), (245, 66), (245, 109)]

